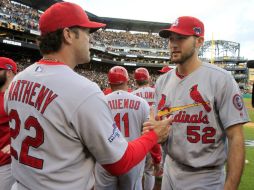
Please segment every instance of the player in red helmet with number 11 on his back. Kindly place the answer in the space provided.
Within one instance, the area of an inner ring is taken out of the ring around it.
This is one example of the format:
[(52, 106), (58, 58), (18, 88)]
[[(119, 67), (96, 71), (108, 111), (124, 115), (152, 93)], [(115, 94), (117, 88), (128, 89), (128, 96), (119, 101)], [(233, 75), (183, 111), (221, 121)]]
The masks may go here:
[[(142, 124), (149, 118), (148, 103), (128, 92), (128, 72), (124, 67), (115, 66), (108, 72), (112, 93), (106, 96), (117, 127), (127, 141), (141, 136)], [(144, 161), (121, 176), (110, 175), (102, 166), (95, 167), (96, 190), (140, 190)]]

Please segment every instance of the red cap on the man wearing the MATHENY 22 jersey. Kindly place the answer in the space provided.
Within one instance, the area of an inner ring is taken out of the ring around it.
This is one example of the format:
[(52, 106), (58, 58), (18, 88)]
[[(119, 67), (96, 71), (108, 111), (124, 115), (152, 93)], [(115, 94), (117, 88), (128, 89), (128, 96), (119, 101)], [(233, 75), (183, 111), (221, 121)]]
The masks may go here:
[(39, 20), (41, 35), (73, 26), (90, 28), (92, 33), (105, 27), (106, 24), (90, 21), (79, 5), (70, 2), (55, 3), (41, 15)]

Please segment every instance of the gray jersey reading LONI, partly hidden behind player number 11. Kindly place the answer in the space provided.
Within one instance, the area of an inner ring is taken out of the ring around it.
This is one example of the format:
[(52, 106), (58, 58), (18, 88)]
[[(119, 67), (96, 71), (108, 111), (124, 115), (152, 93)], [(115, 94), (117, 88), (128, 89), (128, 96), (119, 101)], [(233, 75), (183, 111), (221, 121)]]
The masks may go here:
[(155, 93), (155, 89), (150, 86), (141, 87), (132, 92), (132, 94), (135, 94), (145, 99), (150, 106), (154, 104), (154, 93)]

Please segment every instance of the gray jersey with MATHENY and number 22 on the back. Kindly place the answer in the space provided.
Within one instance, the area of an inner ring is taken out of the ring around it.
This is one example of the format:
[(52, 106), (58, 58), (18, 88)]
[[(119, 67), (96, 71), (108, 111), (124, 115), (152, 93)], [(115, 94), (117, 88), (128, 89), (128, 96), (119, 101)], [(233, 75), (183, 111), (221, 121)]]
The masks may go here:
[(91, 189), (95, 159), (114, 163), (128, 146), (99, 87), (64, 64), (19, 73), (5, 109), (19, 189)]

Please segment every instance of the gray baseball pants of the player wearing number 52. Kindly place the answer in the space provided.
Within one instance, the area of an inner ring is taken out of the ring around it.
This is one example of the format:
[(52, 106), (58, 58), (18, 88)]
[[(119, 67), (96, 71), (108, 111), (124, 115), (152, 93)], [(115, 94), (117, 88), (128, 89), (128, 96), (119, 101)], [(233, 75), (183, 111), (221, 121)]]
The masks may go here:
[(193, 169), (166, 156), (161, 190), (222, 190), (225, 172), (221, 167)]

